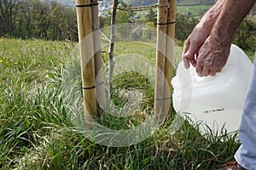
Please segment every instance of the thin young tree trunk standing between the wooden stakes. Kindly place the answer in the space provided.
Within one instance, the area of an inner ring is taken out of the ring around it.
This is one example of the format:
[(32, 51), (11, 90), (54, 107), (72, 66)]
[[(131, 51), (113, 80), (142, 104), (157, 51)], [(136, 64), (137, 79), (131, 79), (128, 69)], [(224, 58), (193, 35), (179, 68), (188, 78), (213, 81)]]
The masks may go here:
[(109, 59), (109, 69), (108, 69), (108, 86), (109, 86), (109, 99), (113, 99), (113, 46), (114, 46), (114, 24), (116, 20), (116, 10), (119, 2), (118, 0), (113, 0), (113, 11), (111, 16), (111, 37), (110, 37), (110, 44), (109, 44), (109, 52), (108, 52), (108, 59)]

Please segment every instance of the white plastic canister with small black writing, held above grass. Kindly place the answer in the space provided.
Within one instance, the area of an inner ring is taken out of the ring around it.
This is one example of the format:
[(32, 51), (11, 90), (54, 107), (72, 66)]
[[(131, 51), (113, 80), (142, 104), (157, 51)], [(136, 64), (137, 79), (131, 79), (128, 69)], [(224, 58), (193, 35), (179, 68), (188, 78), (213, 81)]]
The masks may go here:
[(183, 61), (172, 78), (174, 109), (192, 122), (200, 122), (201, 133), (209, 127), (220, 134), (238, 130), (243, 103), (251, 78), (253, 64), (247, 55), (232, 44), (223, 70), (215, 77), (198, 77), (195, 68), (185, 69)]

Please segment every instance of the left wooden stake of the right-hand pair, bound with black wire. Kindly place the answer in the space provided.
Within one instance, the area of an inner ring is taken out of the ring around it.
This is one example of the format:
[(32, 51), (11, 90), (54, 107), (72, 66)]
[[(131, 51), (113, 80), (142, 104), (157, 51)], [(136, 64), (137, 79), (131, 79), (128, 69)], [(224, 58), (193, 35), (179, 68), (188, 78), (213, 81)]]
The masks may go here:
[(156, 52), (156, 78), (155, 78), (155, 94), (154, 94), (154, 114), (156, 116), (164, 116), (164, 97), (165, 97), (165, 72), (166, 72), (166, 25), (167, 22), (167, 6), (161, 5), (168, 3), (168, 0), (158, 0), (158, 26), (157, 26), (157, 52)]

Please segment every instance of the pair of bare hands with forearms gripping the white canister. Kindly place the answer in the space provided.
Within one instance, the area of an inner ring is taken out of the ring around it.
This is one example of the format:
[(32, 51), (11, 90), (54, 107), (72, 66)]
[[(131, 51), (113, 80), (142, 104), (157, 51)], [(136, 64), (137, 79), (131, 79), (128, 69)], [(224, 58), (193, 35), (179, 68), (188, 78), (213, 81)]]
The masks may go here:
[(185, 68), (195, 66), (200, 77), (215, 76), (226, 64), (236, 29), (256, 0), (218, 0), (195, 26), (184, 44)]

